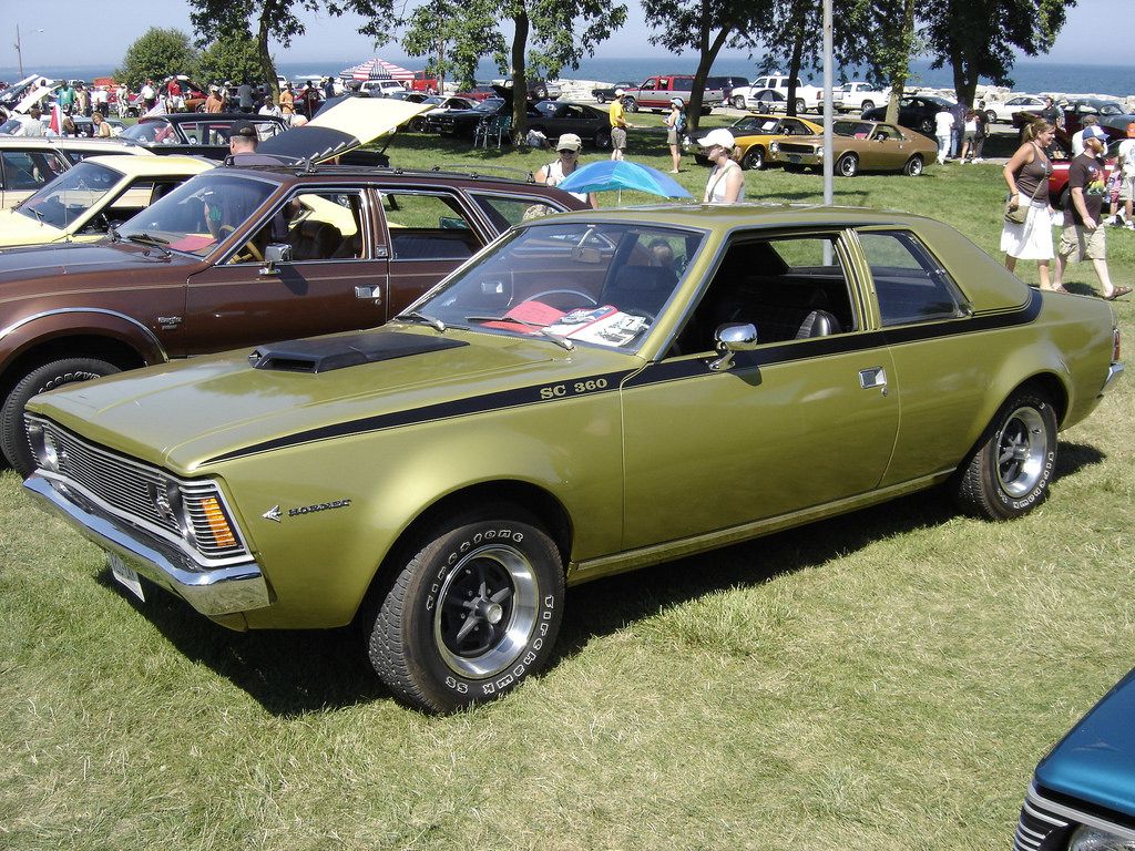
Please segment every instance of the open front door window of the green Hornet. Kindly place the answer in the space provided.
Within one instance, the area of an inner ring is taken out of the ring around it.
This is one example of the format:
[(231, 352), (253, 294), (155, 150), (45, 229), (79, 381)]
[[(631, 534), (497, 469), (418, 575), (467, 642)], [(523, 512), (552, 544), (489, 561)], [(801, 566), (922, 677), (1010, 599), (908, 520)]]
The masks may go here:
[(741, 237), (730, 245), (678, 337), (678, 352), (713, 351), (715, 331), (730, 322), (756, 326), (762, 344), (855, 330), (835, 237)]

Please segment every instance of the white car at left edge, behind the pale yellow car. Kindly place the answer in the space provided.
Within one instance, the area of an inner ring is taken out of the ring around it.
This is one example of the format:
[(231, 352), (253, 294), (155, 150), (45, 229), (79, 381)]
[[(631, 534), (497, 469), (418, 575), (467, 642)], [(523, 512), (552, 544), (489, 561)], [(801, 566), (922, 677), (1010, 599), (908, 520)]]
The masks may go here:
[(110, 138), (0, 137), (0, 210), (15, 207), (87, 157), (144, 153), (144, 148)]

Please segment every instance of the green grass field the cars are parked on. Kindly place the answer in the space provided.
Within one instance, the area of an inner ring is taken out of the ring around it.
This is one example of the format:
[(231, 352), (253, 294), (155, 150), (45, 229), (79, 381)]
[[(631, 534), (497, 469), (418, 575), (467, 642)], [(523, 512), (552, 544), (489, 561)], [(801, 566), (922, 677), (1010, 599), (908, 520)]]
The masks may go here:
[[(669, 168), (659, 135), (630, 152)], [(389, 153), (550, 159), (427, 136)], [(747, 177), (749, 199), (821, 199), (816, 176)], [(998, 167), (835, 193), (997, 247)], [(1135, 280), (1135, 234), (1109, 250)], [(1084, 266), (1067, 283), (1094, 286)], [(133, 604), (5, 472), (0, 848), (1008, 848), (1037, 758), (1135, 664), (1132, 422), (1128, 378), (1061, 435), (1050, 499), (1017, 522), (928, 492), (573, 589), (549, 669), (446, 718), (389, 699), (350, 630), (236, 634), (157, 591)]]

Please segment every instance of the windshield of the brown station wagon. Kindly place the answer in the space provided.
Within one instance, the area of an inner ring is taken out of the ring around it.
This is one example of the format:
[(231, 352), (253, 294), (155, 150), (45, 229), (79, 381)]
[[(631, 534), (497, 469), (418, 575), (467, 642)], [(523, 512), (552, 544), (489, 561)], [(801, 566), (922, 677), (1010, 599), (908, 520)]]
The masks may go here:
[(276, 188), (270, 180), (224, 169), (207, 171), (140, 212), (118, 233), (125, 239), (158, 241), (203, 258), (255, 216)]

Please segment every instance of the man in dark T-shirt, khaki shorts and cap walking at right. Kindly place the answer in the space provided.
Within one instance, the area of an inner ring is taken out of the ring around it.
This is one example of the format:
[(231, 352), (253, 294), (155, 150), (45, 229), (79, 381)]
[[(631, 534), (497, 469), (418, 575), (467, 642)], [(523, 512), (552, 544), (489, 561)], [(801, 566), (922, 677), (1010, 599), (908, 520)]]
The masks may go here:
[(1092, 261), (1095, 275), (1103, 286), (1103, 297), (1113, 302), (1132, 292), (1130, 287), (1112, 285), (1108, 275), (1108, 244), (1100, 221), (1107, 184), (1103, 179), (1103, 153), (1108, 134), (1100, 125), (1084, 128), (1084, 153), (1068, 166), (1068, 208), (1065, 212), (1065, 229), (1060, 236), (1057, 253), (1057, 273), (1053, 289), (1060, 292), (1068, 262), (1078, 263), (1085, 258)]

